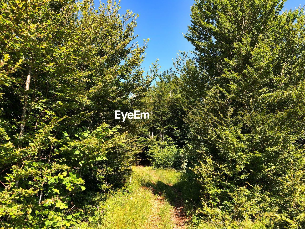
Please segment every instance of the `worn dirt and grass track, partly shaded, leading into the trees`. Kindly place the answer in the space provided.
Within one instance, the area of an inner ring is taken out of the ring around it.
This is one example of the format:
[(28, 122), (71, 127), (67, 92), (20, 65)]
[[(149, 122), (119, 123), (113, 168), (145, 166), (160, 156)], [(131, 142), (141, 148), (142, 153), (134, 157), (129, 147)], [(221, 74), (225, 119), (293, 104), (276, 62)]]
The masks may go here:
[[(148, 228), (182, 229), (188, 221), (184, 202), (176, 185), (181, 182), (182, 173), (174, 169), (153, 169), (133, 167), (135, 179), (152, 192), (154, 213), (150, 216)], [(158, 217), (159, 216), (159, 217)], [(153, 219), (153, 220), (151, 220)]]

